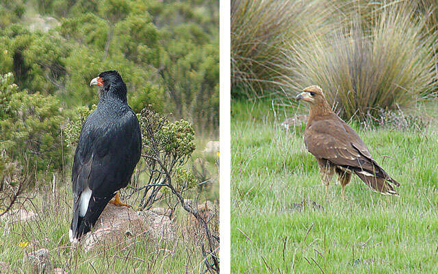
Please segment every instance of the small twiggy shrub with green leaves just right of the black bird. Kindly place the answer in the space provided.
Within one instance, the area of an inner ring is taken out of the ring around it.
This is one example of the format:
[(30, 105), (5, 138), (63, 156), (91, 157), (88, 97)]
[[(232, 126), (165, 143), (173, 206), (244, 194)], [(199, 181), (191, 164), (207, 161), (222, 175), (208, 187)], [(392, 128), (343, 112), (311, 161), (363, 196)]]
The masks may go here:
[(182, 194), (196, 186), (192, 172), (183, 168), (195, 149), (194, 130), (188, 121), (170, 123), (166, 117), (147, 108), (138, 114), (138, 119), (142, 130), (142, 157), (149, 177), (140, 208), (149, 209), (160, 199), (157, 194), (162, 188), (166, 194), (174, 190)]

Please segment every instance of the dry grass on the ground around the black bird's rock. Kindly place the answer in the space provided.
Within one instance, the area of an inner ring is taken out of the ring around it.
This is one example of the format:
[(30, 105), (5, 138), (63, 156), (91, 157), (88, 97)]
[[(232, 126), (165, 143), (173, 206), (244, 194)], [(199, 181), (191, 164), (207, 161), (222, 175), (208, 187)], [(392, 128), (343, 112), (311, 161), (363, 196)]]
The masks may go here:
[[(85, 252), (68, 240), (71, 217), (71, 192), (66, 187), (43, 186), (28, 199), (14, 206), (36, 213), (34, 221), (8, 223), (0, 220), (0, 262), (8, 265), (6, 273), (32, 273), (34, 265), (26, 254), (49, 250), (47, 268), (64, 273), (203, 273), (205, 256), (201, 246), (207, 239), (196, 223), (181, 208), (175, 212), (175, 240), (151, 240), (140, 234), (121, 242), (107, 242), (105, 248)], [(127, 202), (132, 203), (134, 199)], [(217, 214), (212, 211), (212, 214)], [(211, 217), (211, 227), (218, 227), (218, 216)], [(0, 264), (1, 266), (1, 264)], [(0, 273), (2, 269), (0, 269)], [(38, 273), (38, 272), (36, 272)]]

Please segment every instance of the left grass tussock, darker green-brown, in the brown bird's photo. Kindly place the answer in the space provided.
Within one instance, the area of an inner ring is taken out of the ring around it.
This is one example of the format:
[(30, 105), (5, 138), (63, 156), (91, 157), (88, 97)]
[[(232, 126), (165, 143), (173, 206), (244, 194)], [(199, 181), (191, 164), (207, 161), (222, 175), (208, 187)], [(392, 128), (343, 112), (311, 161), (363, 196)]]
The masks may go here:
[(330, 27), (321, 1), (231, 1), (231, 83), (248, 97), (263, 97), (287, 73), (283, 49), (290, 40), (302, 40), (309, 29)]

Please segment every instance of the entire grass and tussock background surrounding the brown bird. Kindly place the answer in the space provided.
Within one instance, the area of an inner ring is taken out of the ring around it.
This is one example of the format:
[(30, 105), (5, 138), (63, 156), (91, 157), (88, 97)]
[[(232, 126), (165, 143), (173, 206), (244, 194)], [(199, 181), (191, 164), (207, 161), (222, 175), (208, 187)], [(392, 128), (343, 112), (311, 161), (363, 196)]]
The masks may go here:
[[(437, 18), (428, 0), (231, 1), (233, 273), (438, 271)], [(305, 123), (282, 123), (314, 84), (400, 197), (359, 178), (326, 195)]]

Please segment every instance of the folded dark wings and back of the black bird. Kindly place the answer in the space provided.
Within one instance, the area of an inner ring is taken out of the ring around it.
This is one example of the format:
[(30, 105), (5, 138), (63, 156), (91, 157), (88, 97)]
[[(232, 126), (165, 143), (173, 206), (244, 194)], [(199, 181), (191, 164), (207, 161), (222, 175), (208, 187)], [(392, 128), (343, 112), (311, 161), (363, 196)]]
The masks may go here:
[(79, 138), (77, 148), (79, 151), (75, 155), (73, 164), (74, 187), (74, 177), (80, 176), (78, 172), (88, 162), (86, 158), (89, 158), (90, 154), (92, 155), (92, 164), (89, 175), (86, 180), (78, 183), (81, 186), (88, 185), (93, 190), (93, 195), (97, 197), (113, 195), (129, 181), (133, 168), (140, 158), (140, 150), (137, 149), (138, 155), (132, 155), (132, 147), (140, 148), (141, 145), (140, 137), (136, 136), (136, 132), (139, 130), (138, 122), (136, 123), (133, 116), (134, 114), (127, 115), (123, 117), (126, 119), (120, 119), (118, 123), (107, 128), (99, 128), (98, 125), (94, 125), (86, 132), (84, 130), (81, 132), (83, 136)]

